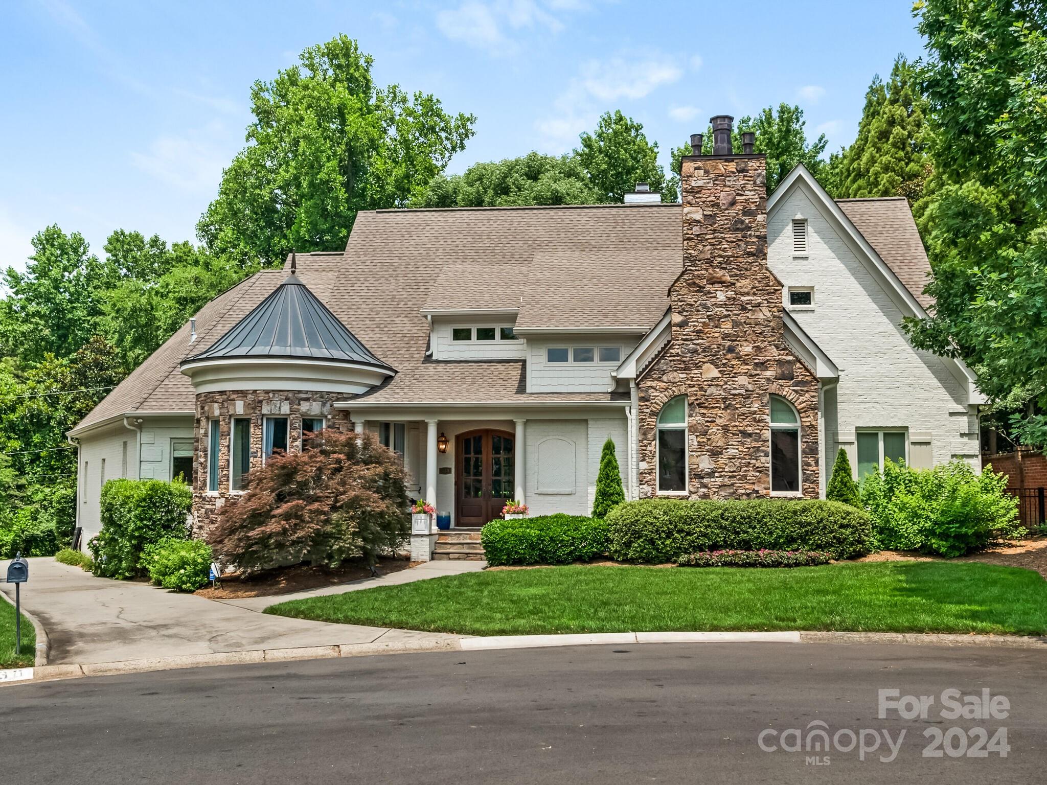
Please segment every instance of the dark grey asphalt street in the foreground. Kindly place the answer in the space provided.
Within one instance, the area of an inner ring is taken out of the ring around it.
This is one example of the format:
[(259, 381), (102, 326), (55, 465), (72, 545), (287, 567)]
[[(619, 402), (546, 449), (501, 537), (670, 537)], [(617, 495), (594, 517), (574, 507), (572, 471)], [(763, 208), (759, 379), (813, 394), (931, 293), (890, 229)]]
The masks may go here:
[(0, 766), (84, 785), (1041, 783), (1045, 675), (1042, 651), (783, 644), (199, 668), (0, 688)]

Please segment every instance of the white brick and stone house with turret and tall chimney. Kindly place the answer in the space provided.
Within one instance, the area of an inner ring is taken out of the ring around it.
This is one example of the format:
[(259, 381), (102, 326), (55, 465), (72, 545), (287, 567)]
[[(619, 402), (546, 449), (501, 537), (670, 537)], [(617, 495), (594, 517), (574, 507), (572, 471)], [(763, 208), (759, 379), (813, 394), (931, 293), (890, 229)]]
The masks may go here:
[(628, 498), (816, 498), (840, 447), (859, 476), (979, 467), (974, 376), (901, 329), (929, 305), (906, 200), (802, 166), (768, 199), (714, 120), (681, 204), (360, 212), (343, 252), (221, 294), (70, 431), (85, 539), (107, 478), (183, 474), (203, 531), (318, 428), (376, 432), (454, 526), (587, 513), (608, 436)]

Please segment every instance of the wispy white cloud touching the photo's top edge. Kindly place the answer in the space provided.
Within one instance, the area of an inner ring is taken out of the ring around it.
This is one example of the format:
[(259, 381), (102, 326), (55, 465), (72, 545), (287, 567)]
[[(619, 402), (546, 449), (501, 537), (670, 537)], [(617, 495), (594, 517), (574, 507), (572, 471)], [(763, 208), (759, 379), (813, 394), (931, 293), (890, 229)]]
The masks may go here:
[[(551, 0), (549, 6), (555, 10), (582, 7), (579, 3), (562, 0)], [(505, 57), (519, 51), (519, 44), (509, 32), (540, 27), (557, 33), (563, 29), (563, 23), (536, 0), (466, 0), (458, 8), (438, 12), (437, 27), (452, 41)]]

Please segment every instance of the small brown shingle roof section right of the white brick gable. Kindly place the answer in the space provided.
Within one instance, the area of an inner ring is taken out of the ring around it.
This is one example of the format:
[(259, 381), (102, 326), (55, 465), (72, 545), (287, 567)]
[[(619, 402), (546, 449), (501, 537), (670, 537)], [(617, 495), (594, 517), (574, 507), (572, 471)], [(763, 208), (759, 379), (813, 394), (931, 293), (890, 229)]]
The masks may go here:
[(906, 198), (838, 199), (837, 204), (916, 301), (932, 305), (934, 298), (923, 294), (931, 263)]

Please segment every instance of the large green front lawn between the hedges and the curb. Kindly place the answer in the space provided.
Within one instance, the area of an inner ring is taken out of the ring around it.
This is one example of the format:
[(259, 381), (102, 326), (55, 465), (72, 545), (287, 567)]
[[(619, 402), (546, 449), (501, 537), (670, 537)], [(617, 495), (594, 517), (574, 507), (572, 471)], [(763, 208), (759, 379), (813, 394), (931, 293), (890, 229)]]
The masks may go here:
[(976, 563), (486, 570), (266, 613), (476, 635), (658, 630), (1047, 633), (1047, 582)]

